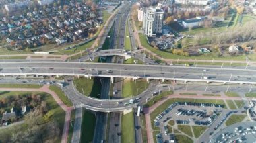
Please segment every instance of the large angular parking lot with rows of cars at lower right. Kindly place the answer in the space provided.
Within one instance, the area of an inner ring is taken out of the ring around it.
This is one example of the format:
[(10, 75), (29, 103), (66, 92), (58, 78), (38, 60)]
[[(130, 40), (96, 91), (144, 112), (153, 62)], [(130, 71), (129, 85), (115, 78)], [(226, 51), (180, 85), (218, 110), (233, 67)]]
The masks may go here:
[[(154, 119), (154, 126), (160, 127), (160, 134), (157, 134), (156, 138), (161, 142), (170, 142), (170, 140), (174, 139), (173, 134), (176, 134), (174, 130), (179, 130), (178, 126), (183, 125), (189, 127), (191, 132), (193, 132), (192, 128), (190, 129), (192, 126), (200, 126), (205, 129), (208, 127), (206, 131), (209, 138), (210, 134), (218, 130), (231, 113), (238, 113), (238, 111), (230, 111), (224, 109), (224, 105), (212, 103), (175, 102), (164, 109), (164, 111)], [(218, 122), (216, 122), (217, 119)], [(170, 121), (173, 122), (174, 125), (170, 126)], [(210, 130), (210, 132), (208, 130)], [(200, 135), (203, 134), (203, 132), (205, 132), (205, 130), (203, 130)], [(181, 132), (180, 134), (184, 133)], [(193, 137), (194, 133), (191, 134), (192, 136), (190, 137)], [(192, 139), (195, 141), (196, 138)]]

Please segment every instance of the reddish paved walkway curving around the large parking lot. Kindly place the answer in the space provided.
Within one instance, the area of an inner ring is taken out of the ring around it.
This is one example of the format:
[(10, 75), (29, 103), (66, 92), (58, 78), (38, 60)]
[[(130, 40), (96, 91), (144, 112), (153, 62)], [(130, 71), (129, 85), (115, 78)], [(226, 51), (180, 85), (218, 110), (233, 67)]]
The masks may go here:
[[(148, 109), (148, 113), (145, 114), (145, 124), (146, 124), (146, 130), (147, 130), (147, 136), (148, 136), (148, 143), (154, 143), (153, 139), (153, 129), (151, 126), (151, 119), (150, 119), (150, 113), (152, 113), (155, 109), (157, 109), (162, 103), (167, 101), (168, 99), (172, 98), (184, 98), (184, 99), (222, 99), (222, 100), (242, 100), (242, 97), (228, 97), (224, 94), (221, 94), (222, 96), (203, 96), (203, 91), (189, 91), (189, 93), (197, 93), (197, 95), (180, 95), (179, 93), (186, 93), (185, 91), (174, 91), (173, 95), (169, 95), (166, 98), (161, 99), (152, 107)], [(251, 99), (251, 98), (247, 98)]]

